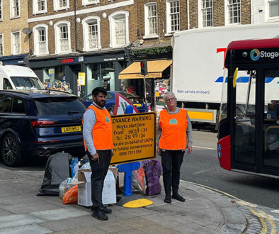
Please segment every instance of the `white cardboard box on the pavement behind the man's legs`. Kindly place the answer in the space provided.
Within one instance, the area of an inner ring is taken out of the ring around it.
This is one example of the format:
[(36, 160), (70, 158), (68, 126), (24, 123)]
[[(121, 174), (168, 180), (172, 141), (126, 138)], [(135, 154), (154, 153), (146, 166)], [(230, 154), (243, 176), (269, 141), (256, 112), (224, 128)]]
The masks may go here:
[[(78, 179), (78, 204), (81, 206), (92, 206), (90, 170), (79, 170)], [(116, 203), (116, 189), (113, 172), (108, 171), (106, 175), (103, 183), (102, 197), (104, 205)]]

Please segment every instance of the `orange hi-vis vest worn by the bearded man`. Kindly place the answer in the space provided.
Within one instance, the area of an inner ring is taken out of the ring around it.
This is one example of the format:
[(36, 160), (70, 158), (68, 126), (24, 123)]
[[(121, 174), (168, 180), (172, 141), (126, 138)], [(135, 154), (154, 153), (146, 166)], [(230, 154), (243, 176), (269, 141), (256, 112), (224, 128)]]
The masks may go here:
[[(96, 106), (89, 106), (95, 112), (96, 123), (92, 128), (93, 144), (96, 150), (110, 150), (113, 149), (113, 123), (107, 109), (101, 110)], [(89, 109), (87, 108), (86, 111)], [(82, 121), (84, 124), (84, 121)], [(84, 141), (85, 151), (87, 150)]]

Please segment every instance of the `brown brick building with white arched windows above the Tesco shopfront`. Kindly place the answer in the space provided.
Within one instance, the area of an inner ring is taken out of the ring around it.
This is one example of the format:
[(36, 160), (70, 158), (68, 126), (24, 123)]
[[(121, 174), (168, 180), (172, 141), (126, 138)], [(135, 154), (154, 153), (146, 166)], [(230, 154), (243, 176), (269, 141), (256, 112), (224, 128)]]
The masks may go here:
[(133, 0), (28, 1), (33, 55), (28, 66), (42, 81), (66, 77), (77, 94), (79, 72), (86, 73), (83, 94), (103, 83), (120, 89), (118, 73), (125, 67), (125, 48), (137, 38)]

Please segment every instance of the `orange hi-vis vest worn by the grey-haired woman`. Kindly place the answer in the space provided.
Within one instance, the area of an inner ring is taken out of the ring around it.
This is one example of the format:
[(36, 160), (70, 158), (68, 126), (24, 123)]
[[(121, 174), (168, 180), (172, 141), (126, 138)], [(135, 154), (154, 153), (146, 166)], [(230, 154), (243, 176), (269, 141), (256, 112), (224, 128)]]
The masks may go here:
[(188, 127), (187, 111), (181, 108), (178, 113), (160, 112), (159, 126), (161, 138), (159, 147), (163, 150), (185, 150), (187, 146), (186, 130)]

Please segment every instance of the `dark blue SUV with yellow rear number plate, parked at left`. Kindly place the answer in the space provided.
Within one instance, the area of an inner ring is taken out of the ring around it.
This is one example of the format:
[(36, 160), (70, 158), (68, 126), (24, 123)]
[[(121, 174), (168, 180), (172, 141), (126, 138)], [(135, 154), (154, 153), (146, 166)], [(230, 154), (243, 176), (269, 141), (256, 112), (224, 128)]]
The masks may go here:
[(48, 157), (69, 152), (83, 157), (82, 116), (77, 96), (50, 90), (0, 91), (0, 152), (10, 167), (25, 155)]

